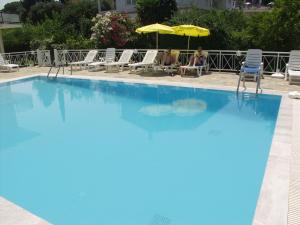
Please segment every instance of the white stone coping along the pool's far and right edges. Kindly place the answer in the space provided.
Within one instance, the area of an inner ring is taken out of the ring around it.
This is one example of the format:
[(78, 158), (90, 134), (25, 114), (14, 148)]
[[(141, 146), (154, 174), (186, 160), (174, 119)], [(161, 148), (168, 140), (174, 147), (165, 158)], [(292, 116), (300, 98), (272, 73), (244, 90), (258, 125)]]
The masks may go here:
[[(51, 75), (51, 74), (50, 74)], [(7, 79), (5, 81), (0, 81), (1, 83), (7, 83), (12, 81), (18, 81), (22, 79), (34, 78), (34, 77), (45, 77), (46, 73), (33, 74), (22, 76), (18, 78)], [(236, 91), (233, 86), (218, 86), (218, 85), (205, 85), (205, 84), (191, 84), (188, 82), (178, 82), (178, 81), (163, 81), (163, 80), (150, 80), (150, 79), (134, 79), (134, 78), (115, 78), (115, 77), (103, 77), (103, 76), (86, 76), (86, 75), (61, 75), (62, 78), (76, 78), (83, 80), (102, 80), (102, 81), (114, 81), (114, 82), (124, 82), (124, 83), (136, 83), (136, 84), (148, 84), (148, 85), (166, 85), (166, 86), (177, 86), (177, 87), (188, 87), (188, 88), (204, 88), (210, 90), (223, 90), (223, 91)], [(255, 93), (254, 88), (248, 88), (247, 93)], [(271, 148), (268, 155), (268, 160), (266, 163), (264, 178), (260, 187), (260, 193), (258, 196), (255, 214), (253, 217), (252, 225), (269, 225), (269, 224), (280, 224), (287, 225), (288, 216), (288, 197), (289, 197), (289, 167), (290, 167), (290, 157), (292, 151), (292, 138), (288, 138), (286, 141), (286, 136), (291, 137), (293, 134), (292, 123), (293, 123), (293, 100), (289, 99), (286, 91), (276, 91), (276, 90), (263, 90), (263, 94), (270, 95), (280, 95), (281, 103), (278, 111), (278, 117), (276, 121), (276, 126), (274, 129), (273, 139), (271, 143)], [(281, 148), (284, 146), (284, 153), (281, 152)], [(287, 149), (286, 149), (287, 148)], [(281, 162), (281, 164), (274, 166), (273, 161)], [(285, 173), (281, 176), (277, 176), (279, 171), (284, 171)], [(277, 183), (277, 186), (274, 183)], [(284, 184), (282, 184), (282, 182)], [(285, 189), (282, 188), (282, 186)], [(274, 193), (276, 193), (274, 198)], [(279, 194), (280, 193), (280, 194)], [(278, 196), (280, 195), (280, 196)], [(277, 199), (276, 199), (277, 197)], [(278, 199), (279, 197), (279, 199)], [(274, 202), (277, 203), (276, 207)], [(271, 203), (271, 204), (270, 204)], [(279, 207), (279, 208), (278, 208)], [(280, 221), (280, 222), (279, 222)]]

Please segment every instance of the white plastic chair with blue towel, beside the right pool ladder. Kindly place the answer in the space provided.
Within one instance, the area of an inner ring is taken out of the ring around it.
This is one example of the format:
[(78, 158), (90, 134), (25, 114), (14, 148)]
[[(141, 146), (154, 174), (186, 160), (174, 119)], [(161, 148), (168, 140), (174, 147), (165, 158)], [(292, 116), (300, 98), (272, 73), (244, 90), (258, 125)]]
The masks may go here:
[(262, 62), (262, 50), (261, 49), (249, 49), (247, 51), (246, 60), (242, 63), (240, 70), (239, 81), (237, 91), (239, 91), (240, 82), (243, 79), (243, 87), (246, 89), (245, 80), (246, 76), (253, 76), (254, 81), (257, 82), (256, 93), (260, 87), (260, 80), (263, 75), (264, 64)]

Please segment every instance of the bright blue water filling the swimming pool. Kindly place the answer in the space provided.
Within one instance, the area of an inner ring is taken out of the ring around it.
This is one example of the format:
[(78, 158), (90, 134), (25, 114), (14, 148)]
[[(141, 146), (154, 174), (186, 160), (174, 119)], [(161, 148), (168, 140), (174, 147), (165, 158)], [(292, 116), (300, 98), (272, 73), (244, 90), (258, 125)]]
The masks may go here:
[(250, 225), (280, 96), (0, 84), (0, 195), (58, 225)]

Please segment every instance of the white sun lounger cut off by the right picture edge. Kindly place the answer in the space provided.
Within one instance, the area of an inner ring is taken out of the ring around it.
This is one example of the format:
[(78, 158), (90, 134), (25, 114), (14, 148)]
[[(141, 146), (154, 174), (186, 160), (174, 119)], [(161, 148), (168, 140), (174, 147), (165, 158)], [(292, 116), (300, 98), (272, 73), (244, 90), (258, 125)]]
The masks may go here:
[(291, 51), (289, 63), (286, 64), (285, 79), (289, 80), (290, 84), (300, 82), (300, 50)]

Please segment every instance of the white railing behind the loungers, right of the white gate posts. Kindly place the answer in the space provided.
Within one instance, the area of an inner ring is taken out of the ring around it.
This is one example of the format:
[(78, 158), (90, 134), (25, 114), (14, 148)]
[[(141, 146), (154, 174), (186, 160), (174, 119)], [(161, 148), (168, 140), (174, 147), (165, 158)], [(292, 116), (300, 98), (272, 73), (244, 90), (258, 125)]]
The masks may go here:
[[(60, 59), (64, 59), (65, 63), (74, 61), (81, 61), (84, 59), (89, 50), (58, 50), (57, 62), (61, 62)], [(116, 60), (118, 60), (123, 49), (116, 50)], [(132, 57), (133, 62), (141, 61), (146, 53), (147, 49), (135, 50), (135, 54)], [(163, 52), (164, 49), (160, 49)], [(98, 49), (98, 58), (105, 56), (105, 49)], [(194, 50), (180, 50), (179, 62), (181, 64), (187, 64), (190, 56), (194, 53)], [(241, 51), (241, 56), (237, 56), (235, 50), (208, 50), (208, 63), (210, 70), (212, 71), (227, 71), (236, 72), (240, 69), (241, 62), (245, 59), (247, 51)], [(289, 52), (263, 52), (264, 73), (271, 74), (276, 71), (284, 72), (286, 63), (289, 59)]]

